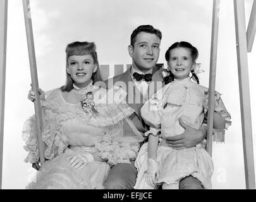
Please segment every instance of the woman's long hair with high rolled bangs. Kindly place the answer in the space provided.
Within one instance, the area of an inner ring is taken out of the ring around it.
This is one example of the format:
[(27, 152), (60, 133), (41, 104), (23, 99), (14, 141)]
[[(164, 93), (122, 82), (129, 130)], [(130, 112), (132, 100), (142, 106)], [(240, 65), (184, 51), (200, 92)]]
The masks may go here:
[[(92, 73), (92, 83), (94, 84), (97, 81), (102, 81), (96, 46), (94, 42), (72, 42), (71, 44), (68, 44), (66, 47), (66, 67), (68, 66), (68, 58), (70, 56), (83, 55), (92, 56), (92, 58), (94, 59), (94, 64), (97, 64), (97, 71), (95, 71), (95, 73)], [(66, 71), (66, 84), (61, 87), (61, 90), (70, 92), (70, 90), (73, 89), (73, 83), (73, 79)]]

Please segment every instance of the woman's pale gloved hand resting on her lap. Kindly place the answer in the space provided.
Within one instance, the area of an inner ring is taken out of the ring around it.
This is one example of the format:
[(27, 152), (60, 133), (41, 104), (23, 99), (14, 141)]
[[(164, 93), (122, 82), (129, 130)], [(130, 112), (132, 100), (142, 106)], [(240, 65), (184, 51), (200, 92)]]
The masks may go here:
[(94, 161), (94, 157), (90, 153), (78, 153), (76, 155), (66, 158), (66, 160), (69, 160), (70, 158), (70, 164), (72, 167), (75, 167), (75, 169), (83, 169), (88, 162)]

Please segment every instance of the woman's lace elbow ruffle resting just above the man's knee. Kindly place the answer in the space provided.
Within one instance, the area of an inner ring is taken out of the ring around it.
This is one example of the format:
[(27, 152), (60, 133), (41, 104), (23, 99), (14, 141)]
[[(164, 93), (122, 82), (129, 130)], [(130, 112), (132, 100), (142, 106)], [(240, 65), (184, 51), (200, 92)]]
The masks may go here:
[(138, 143), (118, 143), (116, 141), (104, 141), (97, 143), (99, 157), (107, 160), (109, 165), (117, 163), (130, 163), (130, 160), (135, 160), (139, 150)]

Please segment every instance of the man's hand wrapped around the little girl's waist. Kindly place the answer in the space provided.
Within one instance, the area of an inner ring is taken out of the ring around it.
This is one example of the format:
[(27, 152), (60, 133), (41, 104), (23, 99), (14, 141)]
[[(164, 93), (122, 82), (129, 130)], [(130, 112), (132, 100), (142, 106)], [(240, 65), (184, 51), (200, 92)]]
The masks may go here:
[(177, 136), (168, 137), (166, 138), (166, 143), (168, 146), (175, 148), (176, 150), (180, 150), (183, 148), (191, 148), (200, 141), (202, 141), (206, 136), (206, 128), (202, 128), (205, 126), (202, 126), (199, 130), (192, 128), (191, 126), (188, 126), (179, 119), (181, 127), (185, 129), (184, 133), (179, 134)]

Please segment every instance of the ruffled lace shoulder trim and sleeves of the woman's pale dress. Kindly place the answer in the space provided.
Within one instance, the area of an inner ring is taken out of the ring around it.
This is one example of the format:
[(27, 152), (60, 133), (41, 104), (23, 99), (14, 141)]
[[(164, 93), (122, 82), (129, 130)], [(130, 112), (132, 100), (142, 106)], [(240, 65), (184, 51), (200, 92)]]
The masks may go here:
[[(111, 136), (107, 134), (103, 141), (98, 144), (101, 148), (99, 156), (107, 158), (109, 163), (127, 162), (137, 155), (138, 143), (143, 141), (142, 134), (135, 128), (128, 118), (134, 110), (128, 104), (100, 105), (99, 114), (88, 115), (82, 110), (80, 104), (67, 104), (58, 88), (49, 93), (46, 101), (42, 102), (45, 108), (46, 117), (44, 119), (44, 129), (42, 131), (42, 141), (46, 143), (44, 155), (47, 159), (60, 155), (68, 146), (68, 138), (61, 128), (61, 122), (68, 121), (77, 116), (85, 119), (86, 124), (92, 126), (106, 127)], [(37, 148), (35, 117), (30, 117), (25, 122), (23, 129), (23, 140), (25, 140), (25, 150), (28, 151), (26, 162), (37, 162), (39, 152)], [(115, 151), (111, 150), (117, 149)], [(113, 153), (114, 152), (114, 153)], [(113, 153), (113, 155), (111, 155)]]

